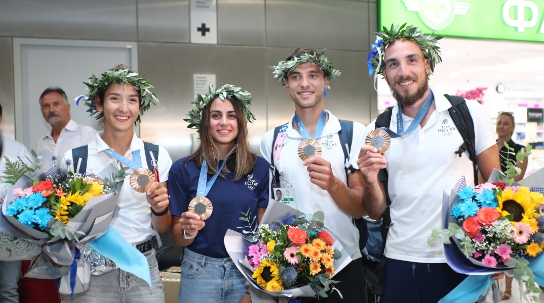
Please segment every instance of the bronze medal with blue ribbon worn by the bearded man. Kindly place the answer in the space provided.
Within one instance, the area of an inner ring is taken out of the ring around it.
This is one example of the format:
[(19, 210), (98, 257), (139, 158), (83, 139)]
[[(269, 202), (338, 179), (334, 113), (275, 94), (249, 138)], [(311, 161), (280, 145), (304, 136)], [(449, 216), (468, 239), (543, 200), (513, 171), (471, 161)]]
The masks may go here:
[(397, 132), (393, 132), (389, 127), (376, 128), (375, 130), (368, 132), (367, 138), (364, 140), (365, 144), (376, 147), (378, 153), (384, 153), (391, 145), (391, 138), (399, 138), (416, 130), (416, 127), (423, 121), (425, 114), (429, 111), (429, 108), (431, 108), (433, 99), (434, 96), (432, 95), (432, 92), (429, 92), (429, 95), (425, 101), (423, 101), (423, 105), (419, 108), (419, 111), (417, 111), (416, 117), (413, 118), (412, 123), (408, 126), (406, 131), (404, 131), (403, 113), (399, 103), (397, 111)]

